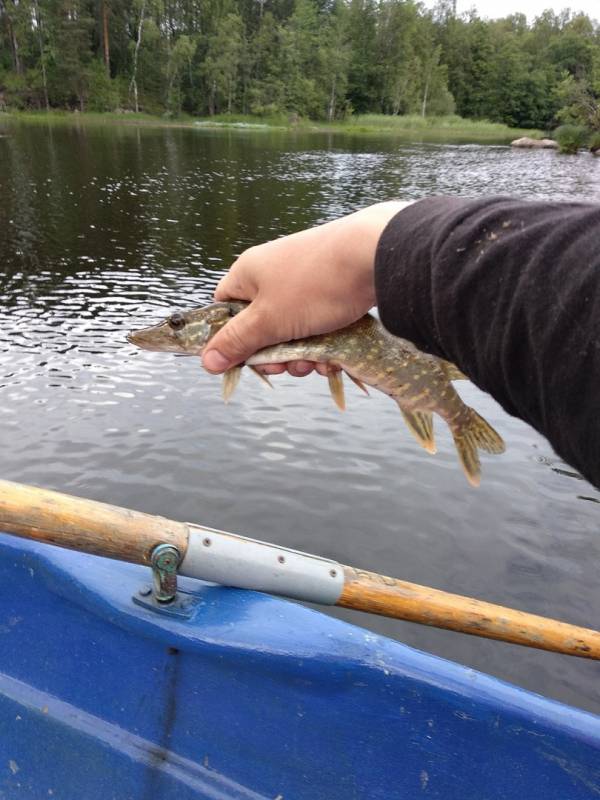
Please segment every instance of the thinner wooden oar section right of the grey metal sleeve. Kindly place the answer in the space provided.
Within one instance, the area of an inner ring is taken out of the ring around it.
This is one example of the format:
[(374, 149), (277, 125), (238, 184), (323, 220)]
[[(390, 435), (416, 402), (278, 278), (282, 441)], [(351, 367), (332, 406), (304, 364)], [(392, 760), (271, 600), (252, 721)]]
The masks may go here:
[(336, 605), (486, 639), (600, 659), (599, 631), (353, 567), (344, 567), (344, 589)]

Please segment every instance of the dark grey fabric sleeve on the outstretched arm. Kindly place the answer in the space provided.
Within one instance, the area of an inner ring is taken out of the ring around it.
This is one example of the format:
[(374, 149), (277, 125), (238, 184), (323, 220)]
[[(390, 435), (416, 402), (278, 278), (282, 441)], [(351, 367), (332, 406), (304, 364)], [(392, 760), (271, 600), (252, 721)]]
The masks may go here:
[(385, 327), (453, 361), (600, 487), (600, 205), (433, 197), (387, 225)]

